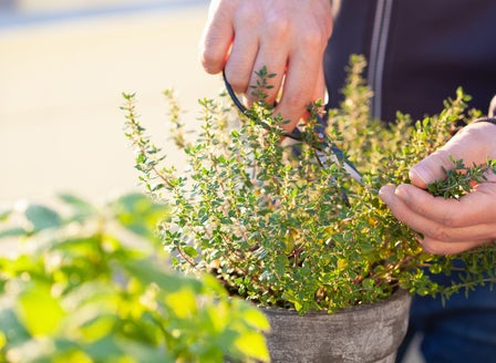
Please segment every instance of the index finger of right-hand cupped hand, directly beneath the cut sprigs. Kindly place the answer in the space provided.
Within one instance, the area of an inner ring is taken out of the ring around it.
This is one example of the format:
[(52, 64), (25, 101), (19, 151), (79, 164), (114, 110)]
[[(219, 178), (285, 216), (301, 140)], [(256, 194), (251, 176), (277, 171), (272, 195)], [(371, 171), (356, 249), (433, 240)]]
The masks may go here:
[(395, 196), (415, 214), (447, 227), (494, 224), (496, 220), (495, 183), (482, 183), (459, 200), (434, 197), (409, 184), (400, 185), (395, 189)]

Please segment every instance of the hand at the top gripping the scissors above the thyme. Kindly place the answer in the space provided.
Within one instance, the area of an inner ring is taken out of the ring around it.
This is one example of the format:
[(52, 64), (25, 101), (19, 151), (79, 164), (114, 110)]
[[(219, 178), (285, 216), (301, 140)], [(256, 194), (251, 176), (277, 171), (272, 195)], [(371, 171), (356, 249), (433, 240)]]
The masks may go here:
[(204, 69), (211, 74), (225, 69), (235, 92), (248, 105), (255, 100), (250, 85), (262, 66), (273, 89), (265, 90), (276, 115), (292, 131), (307, 107), (323, 100), (323, 52), (332, 32), (330, 0), (214, 0), (200, 44)]

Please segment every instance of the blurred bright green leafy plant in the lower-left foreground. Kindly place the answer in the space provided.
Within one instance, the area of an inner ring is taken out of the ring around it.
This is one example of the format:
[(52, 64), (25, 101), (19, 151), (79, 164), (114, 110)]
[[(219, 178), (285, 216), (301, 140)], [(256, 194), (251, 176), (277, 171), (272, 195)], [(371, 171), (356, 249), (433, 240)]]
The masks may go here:
[(140, 194), (1, 212), (13, 256), (0, 258), (0, 361), (266, 361), (257, 310), (165, 267), (155, 228), (167, 212)]

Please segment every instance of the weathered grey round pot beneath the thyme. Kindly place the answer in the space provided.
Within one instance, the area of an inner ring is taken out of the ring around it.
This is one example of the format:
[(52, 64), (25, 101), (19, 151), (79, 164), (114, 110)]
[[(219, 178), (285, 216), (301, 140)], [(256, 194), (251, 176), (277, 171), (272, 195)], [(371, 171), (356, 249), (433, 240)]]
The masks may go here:
[(409, 324), (411, 297), (403, 290), (389, 299), (332, 314), (303, 317), (265, 309), (271, 325), (267, 343), (272, 362), (394, 362)]

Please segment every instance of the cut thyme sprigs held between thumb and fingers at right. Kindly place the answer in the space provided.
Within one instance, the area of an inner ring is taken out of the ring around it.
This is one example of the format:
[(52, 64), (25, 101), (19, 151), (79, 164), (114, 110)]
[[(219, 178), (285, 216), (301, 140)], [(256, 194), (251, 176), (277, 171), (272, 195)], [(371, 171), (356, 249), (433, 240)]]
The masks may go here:
[(473, 164), (466, 166), (463, 160), (455, 160), (451, 157), (454, 167), (446, 170), (445, 179), (436, 180), (427, 186), (427, 190), (433, 196), (443, 196), (445, 199), (459, 199), (465, 194), (471, 193), (476, 184), (487, 182), (487, 173), (496, 174), (496, 159), (487, 160), (484, 165)]

